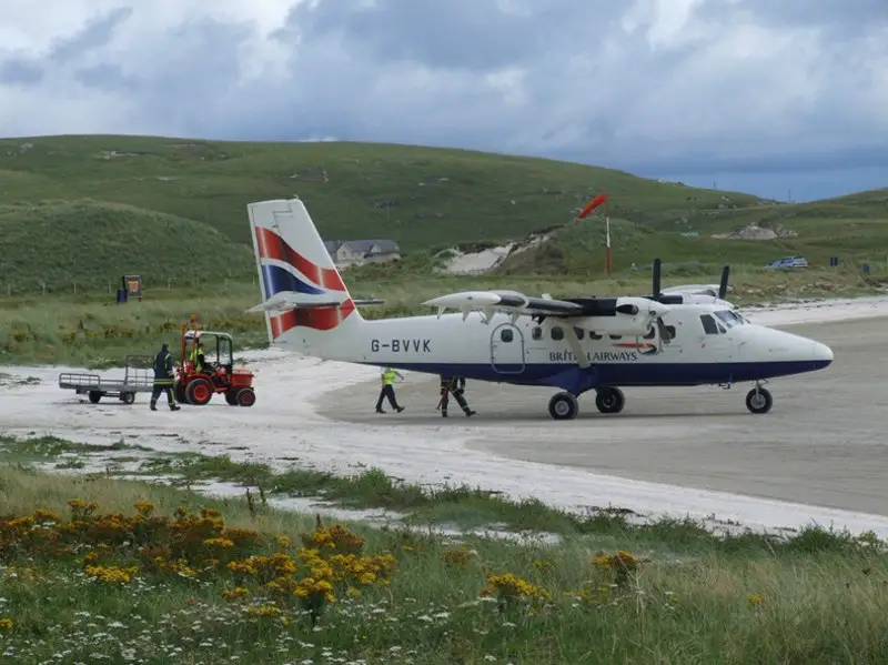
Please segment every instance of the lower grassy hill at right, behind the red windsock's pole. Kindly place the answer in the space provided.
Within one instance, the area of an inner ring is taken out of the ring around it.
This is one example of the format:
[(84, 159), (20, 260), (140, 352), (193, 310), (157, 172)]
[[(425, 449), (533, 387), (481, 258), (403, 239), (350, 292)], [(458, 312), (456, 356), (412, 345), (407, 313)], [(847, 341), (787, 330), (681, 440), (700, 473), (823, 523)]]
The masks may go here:
[[(737, 236), (750, 226), (775, 238)], [(637, 223), (610, 220), (613, 264), (648, 270), (663, 258), (676, 274), (717, 274), (718, 266), (764, 266), (786, 255), (829, 266), (838, 256), (848, 271), (869, 263), (871, 275), (888, 278), (888, 189), (810, 203), (769, 203), (754, 208), (688, 213), (678, 219)], [(605, 265), (605, 226), (601, 219), (566, 224), (543, 246), (509, 256), (502, 274), (599, 274)]]

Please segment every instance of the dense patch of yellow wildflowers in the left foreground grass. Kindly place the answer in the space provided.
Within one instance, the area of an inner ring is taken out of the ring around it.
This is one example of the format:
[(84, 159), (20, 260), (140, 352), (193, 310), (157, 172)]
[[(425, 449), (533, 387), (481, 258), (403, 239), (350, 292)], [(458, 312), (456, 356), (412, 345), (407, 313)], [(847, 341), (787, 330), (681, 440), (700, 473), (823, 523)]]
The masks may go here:
[(337, 595), (387, 585), (395, 570), (394, 556), (364, 555), (364, 538), (337, 524), (323, 526), (320, 518), (303, 534), (304, 546), (294, 547), (283, 535), (229, 527), (213, 510), (179, 507), (164, 517), (147, 501), (130, 515), (99, 513), (95, 503), (77, 498), (69, 506), (69, 520), (43, 510), (0, 518), (0, 553), (9, 560), (70, 561), (87, 578), (108, 585), (171, 575), (221, 582), (224, 599), (249, 601), (246, 614), (280, 616), (301, 606), (312, 623)]

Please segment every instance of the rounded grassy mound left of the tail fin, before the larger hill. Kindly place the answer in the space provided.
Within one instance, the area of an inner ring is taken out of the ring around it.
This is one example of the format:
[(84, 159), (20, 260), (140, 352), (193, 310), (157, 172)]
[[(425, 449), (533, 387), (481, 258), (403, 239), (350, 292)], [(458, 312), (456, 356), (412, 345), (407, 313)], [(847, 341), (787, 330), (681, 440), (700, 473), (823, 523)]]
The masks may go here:
[[(193, 249), (196, 248), (196, 252)], [(117, 289), (121, 275), (145, 286), (241, 278), (252, 249), (205, 224), (95, 201), (0, 205), (0, 294)]]

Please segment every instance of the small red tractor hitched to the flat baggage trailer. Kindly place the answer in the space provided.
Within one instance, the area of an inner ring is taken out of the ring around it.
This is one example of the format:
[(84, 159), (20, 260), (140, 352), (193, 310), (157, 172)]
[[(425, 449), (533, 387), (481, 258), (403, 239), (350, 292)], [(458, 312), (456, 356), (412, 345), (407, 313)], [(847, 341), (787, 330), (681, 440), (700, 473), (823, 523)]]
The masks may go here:
[[(203, 346), (205, 366), (199, 372), (198, 344)], [(234, 367), (234, 343), (228, 333), (198, 330), (196, 320), (182, 326), (181, 364), (176, 370), (175, 399), (184, 404), (202, 406), (214, 393), (224, 393), (231, 406), (252, 406), (256, 402), (253, 373)]]

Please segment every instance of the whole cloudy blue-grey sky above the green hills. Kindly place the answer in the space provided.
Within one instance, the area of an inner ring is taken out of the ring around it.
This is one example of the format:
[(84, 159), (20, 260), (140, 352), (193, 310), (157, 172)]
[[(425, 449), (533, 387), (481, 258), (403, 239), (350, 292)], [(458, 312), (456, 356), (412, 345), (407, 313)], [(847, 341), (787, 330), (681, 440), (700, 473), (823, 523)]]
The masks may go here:
[(888, 187), (888, 0), (1, 1), (0, 135), (452, 145), (781, 200)]

